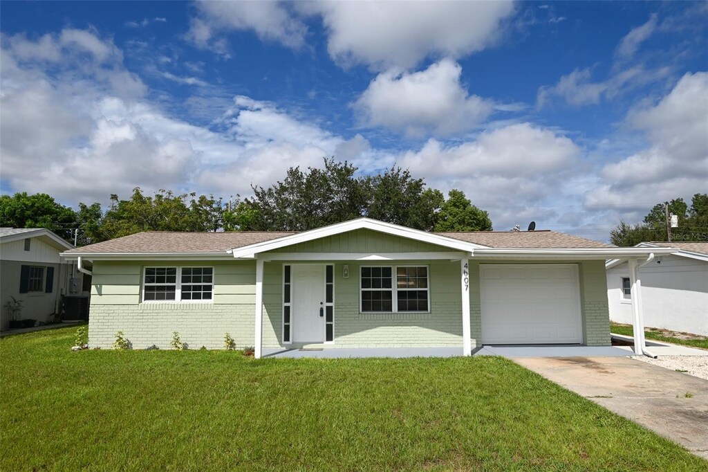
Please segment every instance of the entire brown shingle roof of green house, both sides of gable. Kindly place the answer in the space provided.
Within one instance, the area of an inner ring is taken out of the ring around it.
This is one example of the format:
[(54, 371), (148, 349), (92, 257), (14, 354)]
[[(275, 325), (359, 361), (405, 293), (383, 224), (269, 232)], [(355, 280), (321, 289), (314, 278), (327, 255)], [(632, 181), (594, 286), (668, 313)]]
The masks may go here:
[[(295, 232), (139, 232), (118, 237), (115, 240), (98, 242), (95, 245), (77, 247), (69, 254), (81, 253), (215, 253), (244, 247), (258, 242), (275, 240), (296, 234)], [(604, 248), (612, 247), (602, 242), (554, 231), (491, 231), (491, 232), (438, 232), (464, 242), (498, 248)]]

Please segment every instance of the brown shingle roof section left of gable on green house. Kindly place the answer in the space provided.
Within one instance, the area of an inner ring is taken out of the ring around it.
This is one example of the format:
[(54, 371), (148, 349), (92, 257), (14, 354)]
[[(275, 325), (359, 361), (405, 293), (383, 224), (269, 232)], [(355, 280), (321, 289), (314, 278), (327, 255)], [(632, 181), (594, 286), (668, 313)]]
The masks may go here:
[(71, 254), (82, 252), (226, 252), (227, 249), (294, 235), (294, 232), (162, 232), (147, 231), (77, 247)]

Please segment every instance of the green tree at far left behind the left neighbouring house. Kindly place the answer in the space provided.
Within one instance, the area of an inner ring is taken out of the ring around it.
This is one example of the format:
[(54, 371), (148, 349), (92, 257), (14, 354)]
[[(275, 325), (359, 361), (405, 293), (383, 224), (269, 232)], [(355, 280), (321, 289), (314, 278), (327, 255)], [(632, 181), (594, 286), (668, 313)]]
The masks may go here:
[(46, 193), (18, 192), (13, 196), (0, 196), (0, 226), (45, 227), (73, 243), (72, 232), (77, 225), (76, 212)]

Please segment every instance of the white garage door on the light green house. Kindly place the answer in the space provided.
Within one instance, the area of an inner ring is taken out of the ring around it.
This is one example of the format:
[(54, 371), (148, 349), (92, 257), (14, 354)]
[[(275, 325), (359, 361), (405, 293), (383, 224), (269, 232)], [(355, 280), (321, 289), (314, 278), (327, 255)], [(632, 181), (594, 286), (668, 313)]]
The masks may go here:
[(483, 344), (583, 342), (578, 266), (481, 264)]

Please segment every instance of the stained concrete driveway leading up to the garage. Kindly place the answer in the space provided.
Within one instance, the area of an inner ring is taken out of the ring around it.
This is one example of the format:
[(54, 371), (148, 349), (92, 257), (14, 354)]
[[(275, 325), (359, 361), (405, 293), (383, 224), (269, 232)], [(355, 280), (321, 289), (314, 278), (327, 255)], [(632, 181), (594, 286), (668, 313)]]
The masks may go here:
[(708, 459), (708, 381), (628, 357), (513, 361)]

